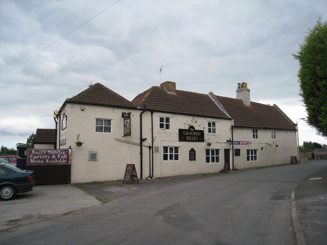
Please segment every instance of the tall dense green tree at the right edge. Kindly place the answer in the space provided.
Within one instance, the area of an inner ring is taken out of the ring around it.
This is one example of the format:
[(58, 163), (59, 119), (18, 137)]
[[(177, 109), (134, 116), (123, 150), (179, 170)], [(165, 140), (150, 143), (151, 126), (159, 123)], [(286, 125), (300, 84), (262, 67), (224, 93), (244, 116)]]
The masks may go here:
[(319, 18), (299, 45), (300, 95), (308, 113), (307, 122), (319, 135), (327, 136), (327, 22)]

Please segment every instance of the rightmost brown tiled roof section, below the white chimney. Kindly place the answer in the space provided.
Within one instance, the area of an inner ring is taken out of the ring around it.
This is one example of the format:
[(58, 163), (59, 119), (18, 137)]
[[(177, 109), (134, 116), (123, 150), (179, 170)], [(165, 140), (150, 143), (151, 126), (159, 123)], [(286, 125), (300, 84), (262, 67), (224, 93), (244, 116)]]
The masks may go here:
[(250, 106), (246, 106), (239, 99), (217, 95), (216, 98), (233, 118), (234, 126), (295, 130), (294, 124), (275, 105), (251, 102)]

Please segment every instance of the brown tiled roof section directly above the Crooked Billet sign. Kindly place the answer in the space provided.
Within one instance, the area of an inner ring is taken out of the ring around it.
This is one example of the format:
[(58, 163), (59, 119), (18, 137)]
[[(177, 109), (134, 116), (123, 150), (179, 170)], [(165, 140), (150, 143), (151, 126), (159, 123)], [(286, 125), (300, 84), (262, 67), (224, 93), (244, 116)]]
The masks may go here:
[(146, 106), (147, 110), (153, 111), (231, 119), (207, 94), (201, 93), (182, 90), (172, 93), (153, 86), (138, 94), (132, 103), (138, 108)]

